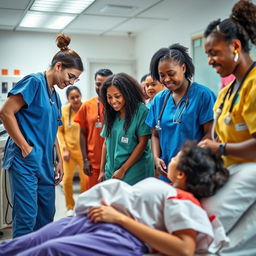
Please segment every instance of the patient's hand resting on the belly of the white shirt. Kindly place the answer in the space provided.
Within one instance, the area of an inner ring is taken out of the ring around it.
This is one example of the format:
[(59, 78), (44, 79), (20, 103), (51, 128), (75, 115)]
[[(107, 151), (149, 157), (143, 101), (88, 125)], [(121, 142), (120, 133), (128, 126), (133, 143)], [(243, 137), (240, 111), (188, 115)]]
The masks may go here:
[(92, 207), (87, 217), (93, 222), (119, 223), (126, 216), (102, 200), (101, 206)]

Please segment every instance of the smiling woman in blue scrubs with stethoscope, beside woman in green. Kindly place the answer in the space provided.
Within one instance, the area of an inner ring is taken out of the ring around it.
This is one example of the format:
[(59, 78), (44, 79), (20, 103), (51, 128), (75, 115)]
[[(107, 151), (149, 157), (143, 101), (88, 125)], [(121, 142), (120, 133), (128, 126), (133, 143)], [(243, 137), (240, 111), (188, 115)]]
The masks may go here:
[(153, 128), (152, 151), (160, 178), (165, 178), (171, 158), (186, 140), (210, 138), (214, 93), (192, 82), (194, 65), (187, 48), (173, 44), (152, 57), (151, 76), (167, 89), (153, 99), (146, 124)]

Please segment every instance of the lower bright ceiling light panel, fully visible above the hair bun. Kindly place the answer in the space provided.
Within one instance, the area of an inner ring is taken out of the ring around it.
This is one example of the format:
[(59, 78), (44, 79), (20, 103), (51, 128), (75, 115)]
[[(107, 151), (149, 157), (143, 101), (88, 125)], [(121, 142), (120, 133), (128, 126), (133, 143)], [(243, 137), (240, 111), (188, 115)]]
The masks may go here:
[(52, 15), (49, 13), (29, 11), (19, 26), (27, 28), (63, 29), (74, 18), (75, 15)]

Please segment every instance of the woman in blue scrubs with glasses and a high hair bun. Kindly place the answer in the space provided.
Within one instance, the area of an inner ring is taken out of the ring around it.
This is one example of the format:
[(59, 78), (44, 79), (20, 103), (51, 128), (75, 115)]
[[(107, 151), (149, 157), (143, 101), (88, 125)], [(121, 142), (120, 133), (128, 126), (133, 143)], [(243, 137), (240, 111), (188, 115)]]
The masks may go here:
[[(63, 176), (56, 139), (61, 125), (61, 102), (54, 89), (74, 84), (83, 63), (68, 48), (70, 37), (56, 38), (60, 51), (50, 69), (30, 74), (8, 93), (0, 117), (9, 134), (3, 168), (8, 170), (13, 202), (13, 237), (18, 237), (53, 221), (55, 185)], [(54, 169), (54, 146), (59, 162)]]

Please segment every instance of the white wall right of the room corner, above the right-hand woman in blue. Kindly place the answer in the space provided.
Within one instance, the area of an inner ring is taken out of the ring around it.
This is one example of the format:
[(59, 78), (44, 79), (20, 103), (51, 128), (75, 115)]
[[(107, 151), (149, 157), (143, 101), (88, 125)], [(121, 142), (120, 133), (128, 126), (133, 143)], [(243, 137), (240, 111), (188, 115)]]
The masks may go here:
[(163, 17), (170, 20), (136, 37), (137, 78), (149, 72), (150, 59), (158, 49), (173, 43), (190, 48), (192, 36), (202, 34), (211, 21), (228, 17), (236, 2), (237, 0), (164, 1), (161, 6)]

